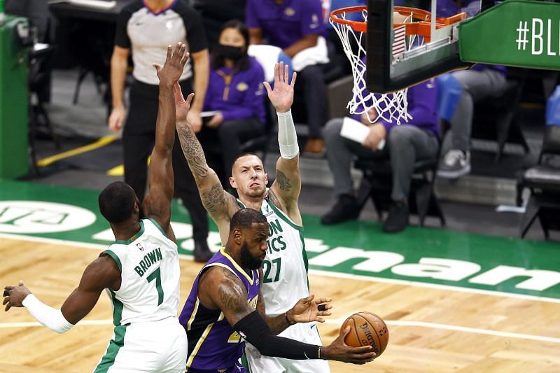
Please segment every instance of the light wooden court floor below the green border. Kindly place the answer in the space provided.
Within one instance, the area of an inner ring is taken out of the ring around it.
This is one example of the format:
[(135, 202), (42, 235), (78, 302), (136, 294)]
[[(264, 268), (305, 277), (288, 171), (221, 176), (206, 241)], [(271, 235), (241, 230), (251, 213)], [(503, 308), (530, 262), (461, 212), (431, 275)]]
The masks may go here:
[[(98, 253), (3, 239), (0, 285), (22, 279), (43, 302), (60, 307)], [(200, 267), (181, 260), (181, 302)], [(388, 323), (389, 345), (381, 357), (361, 366), (331, 362), (332, 372), (560, 372), (559, 302), (312, 273), (310, 280), (316, 295), (334, 299), (334, 314), (319, 326), (323, 342), (334, 339), (355, 311), (373, 311)], [(36, 326), (25, 309), (2, 311), (0, 372), (91, 372), (111, 338), (111, 317), (105, 295), (64, 335)]]

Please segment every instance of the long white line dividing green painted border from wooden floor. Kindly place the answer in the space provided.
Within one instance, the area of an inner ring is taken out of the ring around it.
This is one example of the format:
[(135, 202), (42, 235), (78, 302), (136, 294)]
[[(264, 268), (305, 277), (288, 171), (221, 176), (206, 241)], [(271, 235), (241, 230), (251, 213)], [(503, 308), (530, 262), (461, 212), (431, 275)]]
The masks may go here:
[[(78, 241), (66, 241), (64, 239), (48, 239), (44, 237), (30, 237), (20, 234), (8, 234), (8, 233), (0, 233), (0, 238), (6, 239), (19, 239), (25, 241), (33, 241), (33, 242), (43, 242), (47, 244), (58, 244), (58, 245), (65, 245), (65, 246), (78, 246), (82, 248), (90, 248), (93, 250), (105, 250), (109, 247), (109, 245), (102, 245), (102, 244), (86, 244), (84, 242)], [(193, 255), (183, 255), (179, 254), (179, 258), (186, 259), (186, 260), (193, 260)], [(558, 303), (560, 304), (560, 299), (556, 298), (549, 298), (549, 297), (538, 297), (536, 295), (524, 295), (524, 294), (516, 294), (516, 293), (505, 293), (502, 291), (495, 291), (495, 290), (482, 290), (482, 289), (475, 289), (475, 288), (463, 288), (461, 286), (450, 286), (450, 285), (440, 285), (437, 283), (425, 283), (419, 281), (409, 281), (409, 280), (398, 280), (398, 279), (386, 279), (384, 277), (375, 277), (375, 276), (363, 276), (359, 274), (345, 274), (340, 272), (328, 272), (321, 269), (309, 269), (310, 274), (316, 274), (318, 276), (326, 276), (326, 277), (335, 277), (337, 279), (351, 279), (351, 280), (362, 280), (362, 281), (372, 281), (372, 282), (382, 282), (382, 283), (394, 283), (397, 285), (406, 285), (406, 286), (414, 286), (415, 288), (432, 288), (438, 290), (449, 290), (449, 291), (458, 291), (462, 293), (472, 293), (472, 294), (483, 294), (483, 295), (492, 295), (495, 297), (507, 297), (507, 298), (515, 298), (520, 300), (533, 300), (537, 302), (547, 302), (547, 303)]]

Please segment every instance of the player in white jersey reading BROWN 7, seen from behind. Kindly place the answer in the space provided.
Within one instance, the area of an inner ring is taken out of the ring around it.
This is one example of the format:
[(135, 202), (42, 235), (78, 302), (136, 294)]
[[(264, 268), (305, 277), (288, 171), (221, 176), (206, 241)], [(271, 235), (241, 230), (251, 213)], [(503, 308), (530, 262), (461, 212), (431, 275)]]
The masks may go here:
[[(88, 265), (78, 288), (54, 309), (20, 281), (4, 288), (3, 304), (26, 307), (50, 330), (63, 333), (86, 316), (103, 290), (113, 302), (115, 332), (94, 372), (183, 372), (187, 336), (176, 317), (179, 309), (179, 255), (170, 225), (174, 192), (172, 148), (175, 139), (174, 84), (188, 60), (186, 45), (167, 48), (160, 78), (155, 147), (144, 203), (123, 182), (99, 195), (99, 210), (109, 220), (116, 242)], [(191, 94), (186, 102), (188, 111)], [(143, 216), (144, 213), (144, 216)]]

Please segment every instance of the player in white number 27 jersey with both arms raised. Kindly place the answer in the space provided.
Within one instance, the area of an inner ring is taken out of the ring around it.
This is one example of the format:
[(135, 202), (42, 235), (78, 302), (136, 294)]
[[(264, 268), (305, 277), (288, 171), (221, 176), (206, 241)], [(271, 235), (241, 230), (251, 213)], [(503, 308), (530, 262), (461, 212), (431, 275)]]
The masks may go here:
[[(176, 89), (177, 132), (183, 153), (193, 171), (202, 204), (210, 213), (222, 243), (228, 241), (229, 225), (233, 214), (248, 207), (261, 211), (269, 223), (267, 254), (262, 263), (262, 295), (264, 311), (269, 316), (284, 314), (288, 323), (290, 309), (300, 298), (309, 296), (307, 254), (303, 243), (303, 227), (297, 198), (301, 179), (299, 148), (290, 108), (296, 73), (288, 83), (288, 66), (274, 66), (274, 90), (268, 83), (268, 97), (278, 115), (278, 142), (280, 155), (276, 162), (276, 181), (268, 189), (268, 176), (259, 157), (241, 155), (232, 166), (230, 183), (239, 194), (239, 200), (223, 190), (216, 172), (211, 169), (195, 132), (186, 119), (186, 103)], [(312, 299), (312, 298), (311, 298)], [(321, 344), (315, 323), (298, 323), (279, 334), (308, 344)], [(251, 372), (317, 373), (329, 372), (325, 360), (287, 360), (262, 356), (254, 346), (246, 344), (246, 358)]]

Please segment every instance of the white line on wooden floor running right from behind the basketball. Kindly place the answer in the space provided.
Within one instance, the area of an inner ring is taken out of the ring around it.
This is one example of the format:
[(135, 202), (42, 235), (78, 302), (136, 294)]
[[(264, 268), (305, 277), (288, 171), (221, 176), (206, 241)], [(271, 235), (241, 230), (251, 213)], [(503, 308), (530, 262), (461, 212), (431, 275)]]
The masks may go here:
[[(342, 325), (342, 323), (344, 323), (344, 321), (346, 321), (345, 318), (344, 319), (339, 318), (338, 320), (325, 320), (325, 323), (326, 324)], [(443, 330), (452, 330), (454, 332), (475, 333), (475, 334), (493, 335), (493, 336), (496, 336), (496, 337), (531, 339), (533, 341), (539, 341), (539, 342), (560, 343), (560, 338), (543, 337), (541, 335), (529, 335), (529, 334), (521, 334), (521, 333), (500, 332), (498, 330), (468, 328), (468, 327), (465, 327), (465, 326), (458, 326), (458, 325), (426, 323), (426, 322), (423, 322), (423, 321), (405, 321), (405, 320), (395, 320), (395, 321), (384, 320), (384, 321), (387, 325), (416, 326), (416, 327), (419, 327), (419, 328), (443, 329)]]

